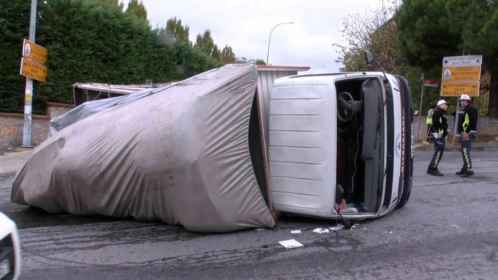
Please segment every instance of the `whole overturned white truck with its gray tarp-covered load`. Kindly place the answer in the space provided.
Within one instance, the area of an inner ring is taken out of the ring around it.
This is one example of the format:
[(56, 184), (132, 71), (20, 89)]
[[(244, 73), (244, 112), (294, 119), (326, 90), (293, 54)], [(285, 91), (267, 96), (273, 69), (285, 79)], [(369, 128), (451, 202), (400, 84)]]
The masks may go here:
[(51, 121), (53, 136), (16, 174), (12, 201), (197, 232), (272, 227), (279, 212), (376, 218), (406, 204), (407, 80), (375, 72), (272, 82), (258, 86), (257, 67), (236, 62), (86, 102)]

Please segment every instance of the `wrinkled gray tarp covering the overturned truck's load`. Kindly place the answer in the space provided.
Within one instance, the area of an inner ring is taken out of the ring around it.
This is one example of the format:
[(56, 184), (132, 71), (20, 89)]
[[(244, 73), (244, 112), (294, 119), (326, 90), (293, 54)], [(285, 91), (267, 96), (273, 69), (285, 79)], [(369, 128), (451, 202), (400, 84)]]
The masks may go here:
[(226, 65), (89, 115), (44, 141), (12, 201), (225, 232), (274, 226), (249, 152), (257, 69)]

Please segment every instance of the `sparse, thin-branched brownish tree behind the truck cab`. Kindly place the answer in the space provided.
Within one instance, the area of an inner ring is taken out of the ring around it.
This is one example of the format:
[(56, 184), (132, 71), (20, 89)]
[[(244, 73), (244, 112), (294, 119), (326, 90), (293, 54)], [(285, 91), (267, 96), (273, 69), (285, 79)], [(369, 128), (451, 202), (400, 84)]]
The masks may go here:
[[(401, 55), (397, 44), (396, 23), (392, 20), (400, 6), (401, 1), (382, 0), (376, 10), (368, 9), (364, 14), (349, 14), (340, 28), (347, 44), (335, 44), (340, 54), (336, 62), (344, 65), (341, 71), (380, 71), (377, 65), (366, 64), (364, 51), (371, 51), (384, 71), (407, 78), (412, 88), (414, 104), (418, 108), (418, 93), (422, 89), (420, 74), (425, 73), (426, 78), (434, 78), (439, 73), (434, 67), (422, 69), (408, 65)], [(426, 88), (424, 95), (423, 108), (429, 107), (438, 99), (438, 92), (434, 88)]]

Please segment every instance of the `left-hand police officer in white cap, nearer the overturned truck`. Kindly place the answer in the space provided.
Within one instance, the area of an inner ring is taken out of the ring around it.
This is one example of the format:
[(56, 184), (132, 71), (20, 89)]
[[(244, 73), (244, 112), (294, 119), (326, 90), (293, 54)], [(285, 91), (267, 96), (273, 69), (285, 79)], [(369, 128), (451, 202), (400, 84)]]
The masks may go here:
[(432, 176), (443, 176), (438, 170), (438, 165), (446, 145), (445, 138), (449, 132), (448, 121), (444, 116), (448, 109), (448, 104), (444, 100), (439, 100), (438, 106), (434, 109), (434, 113), (432, 113), (433, 133), (431, 134), (431, 139), (434, 141), (434, 155), (432, 156), (431, 163), (429, 163), (429, 167), (427, 167), (427, 174), (431, 174)]

